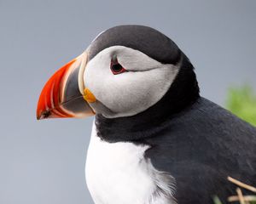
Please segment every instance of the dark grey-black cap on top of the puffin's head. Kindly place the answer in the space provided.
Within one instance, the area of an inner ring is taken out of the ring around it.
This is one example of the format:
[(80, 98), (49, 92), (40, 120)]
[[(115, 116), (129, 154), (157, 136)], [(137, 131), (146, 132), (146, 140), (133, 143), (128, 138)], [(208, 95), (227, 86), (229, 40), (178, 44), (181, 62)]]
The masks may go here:
[(96, 37), (88, 58), (93, 59), (103, 49), (118, 45), (140, 50), (164, 64), (175, 64), (180, 57), (177, 45), (160, 31), (148, 26), (125, 25), (110, 28)]

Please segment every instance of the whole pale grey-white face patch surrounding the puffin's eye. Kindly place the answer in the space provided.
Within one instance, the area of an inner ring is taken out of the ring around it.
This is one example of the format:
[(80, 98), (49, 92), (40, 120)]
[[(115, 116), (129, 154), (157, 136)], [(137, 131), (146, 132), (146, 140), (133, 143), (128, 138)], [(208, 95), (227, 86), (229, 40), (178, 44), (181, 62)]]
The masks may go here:
[[(108, 117), (132, 116), (145, 111), (166, 94), (177, 75), (178, 67), (162, 65), (131, 48), (123, 48), (122, 53), (115, 48), (119, 62), (130, 71), (113, 75), (110, 70), (113, 52), (109, 49), (103, 50), (91, 59), (84, 71), (85, 87), (90, 89), (98, 101), (116, 113)], [(122, 58), (124, 50), (130, 52), (125, 55), (126, 58)], [(129, 61), (131, 61), (131, 66)], [(142, 70), (133, 71), (136, 66)]]

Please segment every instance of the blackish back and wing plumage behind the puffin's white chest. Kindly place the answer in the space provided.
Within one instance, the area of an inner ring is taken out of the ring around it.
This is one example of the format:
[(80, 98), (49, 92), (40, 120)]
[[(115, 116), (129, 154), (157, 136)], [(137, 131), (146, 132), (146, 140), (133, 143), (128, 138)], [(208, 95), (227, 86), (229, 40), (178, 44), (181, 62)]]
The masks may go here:
[(178, 203), (212, 203), (212, 195), (227, 203), (236, 195), (228, 176), (256, 184), (255, 127), (204, 98), (166, 123), (143, 143), (154, 167), (176, 179)]

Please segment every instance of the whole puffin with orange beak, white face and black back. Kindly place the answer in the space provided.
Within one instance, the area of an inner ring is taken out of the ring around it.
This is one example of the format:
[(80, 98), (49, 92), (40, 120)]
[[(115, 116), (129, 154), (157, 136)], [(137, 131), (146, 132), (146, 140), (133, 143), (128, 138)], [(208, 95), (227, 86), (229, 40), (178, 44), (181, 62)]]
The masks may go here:
[(228, 176), (256, 184), (256, 128), (201, 97), (189, 58), (154, 28), (102, 31), (49, 78), (38, 120), (87, 116), (96, 204), (228, 203)]

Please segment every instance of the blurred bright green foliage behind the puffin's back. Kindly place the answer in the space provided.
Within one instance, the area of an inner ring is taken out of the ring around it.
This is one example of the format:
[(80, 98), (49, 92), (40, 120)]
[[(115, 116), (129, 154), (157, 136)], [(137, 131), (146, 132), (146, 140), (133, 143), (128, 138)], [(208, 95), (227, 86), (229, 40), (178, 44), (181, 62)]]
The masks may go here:
[(256, 126), (256, 94), (249, 85), (230, 88), (226, 108), (236, 116)]

